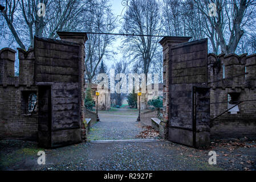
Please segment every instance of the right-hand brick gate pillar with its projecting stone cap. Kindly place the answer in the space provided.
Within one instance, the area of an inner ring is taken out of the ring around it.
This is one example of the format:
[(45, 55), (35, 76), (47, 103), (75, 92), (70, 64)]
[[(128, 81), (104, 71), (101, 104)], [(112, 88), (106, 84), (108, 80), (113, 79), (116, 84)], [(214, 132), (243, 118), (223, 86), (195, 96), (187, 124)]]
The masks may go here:
[(169, 60), (171, 55), (170, 48), (172, 46), (175, 46), (180, 43), (188, 42), (191, 37), (185, 37), (185, 36), (165, 36), (160, 40), (160, 44), (162, 46), (162, 52), (163, 52), (163, 59), (164, 62), (162, 64), (162, 71), (163, 71), (163, 88), (162, 88), (162, 94), (163, 94), (163, 123), (165, 126), (164, 128), (164, 135), (165, 139), (168, 138), (168, 121), (169, 121)]

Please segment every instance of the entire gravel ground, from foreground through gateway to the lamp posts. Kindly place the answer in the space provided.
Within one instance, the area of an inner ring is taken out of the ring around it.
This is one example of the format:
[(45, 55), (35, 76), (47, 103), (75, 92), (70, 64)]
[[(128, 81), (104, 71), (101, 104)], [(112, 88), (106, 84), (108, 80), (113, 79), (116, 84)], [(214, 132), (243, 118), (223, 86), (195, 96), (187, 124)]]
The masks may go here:
[[(90, 132), (90, 140), (137, 139), (143, 129), (136, 110), (100, 111), (101, 122)], [(46, 153), (46, 164), (37, 163), (38, 151)], [(217, 154), (210, 165), (209, 152)], [(0, 140), (0, 170), (256, 170), (256, 142), (214, 140), (205, 150), (167, 141), (87, 142), (45, 150), (36, 142)]]

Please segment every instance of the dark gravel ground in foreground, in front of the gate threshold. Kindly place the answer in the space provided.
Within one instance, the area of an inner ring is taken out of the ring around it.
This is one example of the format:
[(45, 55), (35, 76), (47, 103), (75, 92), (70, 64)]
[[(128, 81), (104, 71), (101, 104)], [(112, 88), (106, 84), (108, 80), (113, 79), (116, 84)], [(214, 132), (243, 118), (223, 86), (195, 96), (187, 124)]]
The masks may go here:
[[(253, 144), (254, 143), (249, 143)], [(172, 142), (80, 143), (51, 150), (36, 143), (0, 141), (1, 170), (255, 170), (256, 148), (212, 145), (198, 150)], [(39, 150), (46, 164), (38, 165)], [(209, 151), (217, 153), (217, 164), (208, 163)]]

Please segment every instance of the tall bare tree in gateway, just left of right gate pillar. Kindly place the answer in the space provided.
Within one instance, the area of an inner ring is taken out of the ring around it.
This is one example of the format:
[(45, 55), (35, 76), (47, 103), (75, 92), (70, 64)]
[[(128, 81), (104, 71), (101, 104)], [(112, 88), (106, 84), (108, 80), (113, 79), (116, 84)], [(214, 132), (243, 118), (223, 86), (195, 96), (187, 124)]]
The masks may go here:
[[(160, 35), (162, 31), (159, 3), (156, 0), (131, 0), (124, 17), (128, 26), (124, 22), (123, 28), (132, 34)], [(158, 42), (159, 37), (127, 36), (123, 41), (123, 52), (131, 58), (130, 63), (136, 63), (147, 76), (157, 49), (160, 49)]]

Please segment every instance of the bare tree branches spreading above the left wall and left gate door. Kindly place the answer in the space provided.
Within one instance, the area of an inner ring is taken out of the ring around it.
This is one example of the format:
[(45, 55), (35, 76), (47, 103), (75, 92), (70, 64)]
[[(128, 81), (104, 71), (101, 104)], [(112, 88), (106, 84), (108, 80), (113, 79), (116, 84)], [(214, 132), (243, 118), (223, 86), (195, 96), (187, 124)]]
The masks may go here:
[[(38, 4), (46, 6), (46, 16), (38, 16)], [(10, 31), (7, 39), (15, 39), (22, 49), (34, 46), (34, 36), (57, 38), (56, 31), (78, 30), (79, 16), (94, 6), (91, 0), (6, 0), (5, 10), (1, 14), (5, 18)], [(86, 19), (84, 19), (84, 22)]]

